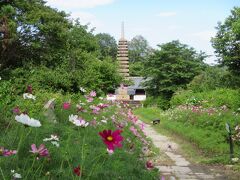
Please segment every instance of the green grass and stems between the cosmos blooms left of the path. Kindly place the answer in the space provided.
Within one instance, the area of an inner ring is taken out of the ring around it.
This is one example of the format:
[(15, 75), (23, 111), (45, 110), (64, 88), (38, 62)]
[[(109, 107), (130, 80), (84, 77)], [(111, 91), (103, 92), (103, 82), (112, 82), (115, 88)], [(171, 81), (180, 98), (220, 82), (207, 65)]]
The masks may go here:
[[(37, 95), (36, 101), (23, 100), (22, 97), (17, 97), (11, 105), (18, 106), (22, 111), (27, 108), (30, 117), (41, 121), (42, 126), (39, 128), (26, 127), (14, 120), (15, 115), (9, 111), (5, 113), (3, 109), (0, 109), (2, 115), (0, 146), (18, 151), (16, 155), (9, 157), (0, 156), (0, 179), (12, 179), (11, 170), (20, 173), (23, 179), (138, 180), (158, 178), (158, 171), (156, 169), (147, 170), (145, 168), (147, 159), (140, 158), (143, 144), (129, 130), (130, 126), (138, 127), (128, 120), (126, 116), (128, 109), (120, 109), (112, 105), (101, 110), (99, 114), (92, 114), (90, 105), (96, 105), (100, 102), (95, 98), (92, 103), (85, 102), (87, 112), (77, 113), (75, 107), (79, 99), (73, 98), (71, 108), (63, 110), (64, 99), (71, 97), (58, 94), (55, 109), (52, 112), (57, 120), (57, 123), (54, 123), (42, 109), (44, 102), (51, 97), (51, 93), (47, 96)], [(84, 98), (81, 98), (83, 101)], [(9, 109), (11, 108), (9, 107)], [(77, 127), (68, 121), (70, 114), (78, 114), (88, 122), (95, 118), (97, 124), (86, 128)], [(124, 123), (122, 129), (124, 141), (122, 148), (117, 148), (112, 155), (109, 155), (106, 151), (107, 147), (98, 133), (105, 129), (118, 129), (112, 121), (113, 115), (116, 122)], [(107, 123), (101, 122), (102, 119), (107, 119)], [(138, 131), (141, 133), (139, 128)], [(52, 134), (59, 137), (59, 148), (50, 142), (43, 142), (44, 138), (49, 138)], [(29, 152), (32, 144), (37, 146), (45, 144), (50, 157), (37, 159), (36, 155)], [(73, 172), (77, 166), (81, 168), (81, 176), (77, 176)]]

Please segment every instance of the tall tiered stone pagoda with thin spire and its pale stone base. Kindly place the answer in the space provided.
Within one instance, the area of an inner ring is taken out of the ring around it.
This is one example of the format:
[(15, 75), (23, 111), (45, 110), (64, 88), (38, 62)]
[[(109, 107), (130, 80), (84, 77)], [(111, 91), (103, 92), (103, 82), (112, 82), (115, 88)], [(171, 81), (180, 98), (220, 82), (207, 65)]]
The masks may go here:
[[(129, 64), (128, 64), (128, 42), (124, 38), (124, 23), (122, 23), (121, 38), (118, 41), (118, 53), (117, 60), (119, 63), (119, 73), (125, 79), (129, 79)], [(128, 88), (123, 84), (117, 89), (117, 100), (128, 101), (130, 96), (128, 95)]]

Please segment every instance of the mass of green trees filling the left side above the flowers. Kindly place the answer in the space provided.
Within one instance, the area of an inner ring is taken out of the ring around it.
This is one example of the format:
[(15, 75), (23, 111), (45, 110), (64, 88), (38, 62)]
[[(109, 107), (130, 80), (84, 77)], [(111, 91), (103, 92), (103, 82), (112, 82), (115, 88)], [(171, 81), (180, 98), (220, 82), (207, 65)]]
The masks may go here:
[(117, 64), (99, 56), (98, 42), (88, 26), (43, 0), (0, 1), (0, 75), (5, 79), (12, 76), (22, 84), (28, 79), (46, 89), (78, 92), (82, 86), (107, 92), (121, 78)]

